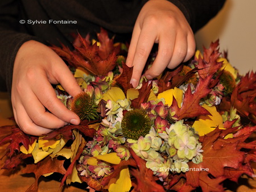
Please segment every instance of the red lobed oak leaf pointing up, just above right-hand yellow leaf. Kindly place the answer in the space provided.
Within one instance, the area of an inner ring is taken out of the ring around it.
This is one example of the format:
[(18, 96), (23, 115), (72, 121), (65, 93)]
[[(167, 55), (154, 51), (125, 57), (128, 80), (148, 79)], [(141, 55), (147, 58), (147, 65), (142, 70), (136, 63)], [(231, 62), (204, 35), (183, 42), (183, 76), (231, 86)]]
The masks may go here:
[(183, 105), (181, 108), (177, 106), (177, 101), (174, 98), (172, 102), (172, 108), (174, 108), (175, 115), (178, 119), (184, 118), (193, 118), (199, 115), (209, 115), (209, 111), (199, 105), (200, 99), (206, 97), (210, 93), (208, 85), (212, 76), (207, 78), (199, 78), (195, 92), (192, 94), (191, 87), (188, 86), (188, 89), (184, 93)]

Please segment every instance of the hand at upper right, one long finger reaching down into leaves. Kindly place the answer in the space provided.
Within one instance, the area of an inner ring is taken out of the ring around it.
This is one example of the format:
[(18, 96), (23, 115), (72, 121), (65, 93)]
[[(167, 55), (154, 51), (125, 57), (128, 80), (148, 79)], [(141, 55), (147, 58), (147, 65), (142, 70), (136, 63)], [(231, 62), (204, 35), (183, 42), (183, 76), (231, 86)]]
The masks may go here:
[(158, 55), (145, 76), (159, 76), (164, 69), (174, 69), (195, 53), (195, 39), (183, 13), (166, 0), (150, 0), (139, 12), (126, 60), (133, 66), (130, 83), (138, 85), (154, 43), (159, 43)]

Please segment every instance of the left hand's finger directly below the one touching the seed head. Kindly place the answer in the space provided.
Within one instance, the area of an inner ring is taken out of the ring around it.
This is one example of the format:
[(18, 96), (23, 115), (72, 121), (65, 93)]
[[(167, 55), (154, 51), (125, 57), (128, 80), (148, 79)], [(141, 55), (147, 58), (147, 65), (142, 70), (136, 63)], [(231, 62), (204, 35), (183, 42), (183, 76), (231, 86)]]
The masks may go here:
[[(53, 129), (63, 127), (67, 124), (55, 115), (47, 112), (46, 108), (32, 91), (27, 91), (26, 94), (26, 97), (21, 98), (22, 103), (28, 116), (36, 125)], [(27, 98), (30, 98), (30, 101), (27, 101)]]

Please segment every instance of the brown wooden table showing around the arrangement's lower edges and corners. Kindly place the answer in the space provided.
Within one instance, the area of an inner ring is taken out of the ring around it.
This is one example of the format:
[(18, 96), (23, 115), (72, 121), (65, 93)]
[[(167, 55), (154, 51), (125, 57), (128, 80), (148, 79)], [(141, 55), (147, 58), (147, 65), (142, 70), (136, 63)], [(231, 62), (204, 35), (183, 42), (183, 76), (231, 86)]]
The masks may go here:
[[(11, 110), (11, 103), (9, 95), (7, 93), (0, 93), (0, 126), (15, 124), (12, 120), (9, 120), (13, 116)], [(2, 135), (3, 136), (3, 135)], [(1, 137), (1, 136), (0, 136)], [(6, 145), (5, 145), (6, 146)], [(0, 147), (0, 156), (5, 151), (5, 146)], [(254, 164), (256, 168), (256, 164)], [(0, 162), (2, 167), (2, 162)], [(254, 169), (256, 173), (256, 169)], [(30, 177), (28, 177), (30, 176)], [(246, 176), (243, 176), (246, 180)], [(13, 172), (13, 170), (0, 170), (0, 191), (26, 191), (26, 189), (32, 185), (35, 181), (33, 174), (22, 175), (19, 171)], [(247, 182), (248, 181), (248, 182)], [(256, 191), (256, 181), (249, 179), (246, 180), (247, 184), (238, 187), (238, 191)], [(54, 180), (43, 180), (39, 183), (39, 191), (58, 191), (60, 182)], [(248, 186), (254, 186), (254, 189), (250, 189)], [(74, 186), (66, 186), (61, 191), (84, 191)], [(228, 190), (230, 191), (230, 190)]]

